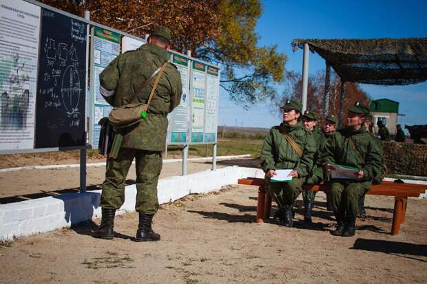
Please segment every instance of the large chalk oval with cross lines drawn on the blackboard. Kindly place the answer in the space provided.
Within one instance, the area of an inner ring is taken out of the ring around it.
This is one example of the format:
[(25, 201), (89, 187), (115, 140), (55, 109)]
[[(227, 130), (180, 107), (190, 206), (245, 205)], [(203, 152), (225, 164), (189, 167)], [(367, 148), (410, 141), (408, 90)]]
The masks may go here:
[(79, 100), (81, 96), (79, 72), (70, 65), (65, 69), (62, 77), (61, 95), (67, 114), (79, 113)]

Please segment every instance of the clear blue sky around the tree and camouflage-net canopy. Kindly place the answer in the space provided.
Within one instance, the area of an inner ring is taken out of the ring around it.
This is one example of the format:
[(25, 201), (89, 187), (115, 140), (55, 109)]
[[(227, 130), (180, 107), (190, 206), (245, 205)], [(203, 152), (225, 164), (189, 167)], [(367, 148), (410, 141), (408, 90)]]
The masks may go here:
[[(425, 0), (323, 0), (262, 1), (264, 12), (256, 32), (259, 45), (278, 45), (287, 54), (287, 70), (302, 72), (302, 50), (293, 52), (293, 39), (373, 39), (427, 36)], [(310, 53), (309, 72), (325, 68), (324, 60)], [(401, 124), (427, 124), (427, 82), (408, 86), (361, 85), (372, 98), (389, 98), (400, 103)], [(218, 124), (269, 128), (280, 118), (269, 103), (244, 110), (230, 102), (220, 90)]]

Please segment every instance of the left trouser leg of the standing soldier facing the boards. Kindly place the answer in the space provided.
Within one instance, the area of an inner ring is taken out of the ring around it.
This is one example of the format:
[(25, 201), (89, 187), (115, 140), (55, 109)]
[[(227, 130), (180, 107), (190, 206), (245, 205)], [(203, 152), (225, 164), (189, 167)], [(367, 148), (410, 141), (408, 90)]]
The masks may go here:
[(102, 208), (118, 209), (125, 202), (125, 181), (134, 156), (134, 149), (121, 148), (116, 159), (107, 158), (107, 171), (101, 194)]

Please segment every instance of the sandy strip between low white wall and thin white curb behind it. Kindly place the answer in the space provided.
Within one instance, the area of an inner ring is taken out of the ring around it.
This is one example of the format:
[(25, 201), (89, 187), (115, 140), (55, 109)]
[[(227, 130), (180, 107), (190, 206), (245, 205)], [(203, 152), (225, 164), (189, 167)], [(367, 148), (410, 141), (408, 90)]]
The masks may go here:
[[(62, 164), (62, 162), (61, 162)], [(217, 168), (222, 168), (218, 162)], [(182, 162), (163, 164), (160, 178), (182, 174)], [(188, 162), (187, 173), (212, 168), (210, 162)], [(80, 168), (29, 169), (0, 173), (0, 204), (59, 195), (79, 191)], [(105, 166), (87, 167), (87, 190), (101, 189), (105, 179)], [(127, 184), (136, 179), (135, 165), (127, 175)]]

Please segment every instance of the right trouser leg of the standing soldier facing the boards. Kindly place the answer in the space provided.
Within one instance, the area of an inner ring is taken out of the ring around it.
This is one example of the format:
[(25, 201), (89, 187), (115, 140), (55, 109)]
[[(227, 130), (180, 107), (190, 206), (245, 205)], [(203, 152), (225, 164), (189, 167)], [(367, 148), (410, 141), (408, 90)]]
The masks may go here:
[(136, 151), (136, 204), (135, 210), (148, 215), (158, 210), (157, 184), (162, 171), (162, 153)]

